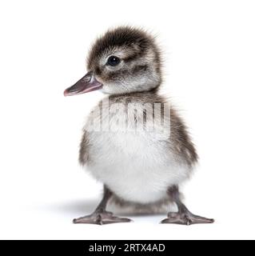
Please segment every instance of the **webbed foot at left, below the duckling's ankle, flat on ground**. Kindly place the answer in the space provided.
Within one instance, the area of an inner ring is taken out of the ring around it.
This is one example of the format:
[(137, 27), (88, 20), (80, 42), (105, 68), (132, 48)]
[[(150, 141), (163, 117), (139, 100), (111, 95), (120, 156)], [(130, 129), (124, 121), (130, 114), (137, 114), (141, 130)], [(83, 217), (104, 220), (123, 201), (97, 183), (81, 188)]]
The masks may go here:
[(120, 217), (114, 216), (114, 214), (110, 212), (99, 212), (99, 213), (90, 214), (81, 218), (74, 218), (73, 222), (74, 224), (104, 225), (104, 224), (131, 222), (131, 219), (120, 218)]

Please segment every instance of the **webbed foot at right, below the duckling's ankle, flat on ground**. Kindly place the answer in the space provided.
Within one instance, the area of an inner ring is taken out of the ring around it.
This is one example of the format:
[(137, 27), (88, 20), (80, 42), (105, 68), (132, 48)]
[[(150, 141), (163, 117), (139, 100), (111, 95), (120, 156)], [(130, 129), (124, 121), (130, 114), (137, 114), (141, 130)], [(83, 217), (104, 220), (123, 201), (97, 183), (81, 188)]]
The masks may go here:
[(213, 223), (213, 218), (205, 218), (198, 215), (185, 213), (169, 213), (168, 218), (161, 221), (162, 224), (179, 224), (179, 225), (193, 225), (193, 224), (209, 224)]

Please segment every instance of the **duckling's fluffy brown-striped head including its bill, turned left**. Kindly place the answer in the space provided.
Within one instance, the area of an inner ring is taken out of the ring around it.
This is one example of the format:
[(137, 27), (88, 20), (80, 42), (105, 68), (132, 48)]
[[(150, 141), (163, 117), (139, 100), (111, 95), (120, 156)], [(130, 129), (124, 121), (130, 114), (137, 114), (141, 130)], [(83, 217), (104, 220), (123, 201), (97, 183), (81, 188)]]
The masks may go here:
[(91, 47), (89, 71), (65, 95), (102, 90), (127, 94), (153, 90), (161, 84), (160, 51), (144, 30), (121, 26), (109, 30)]

